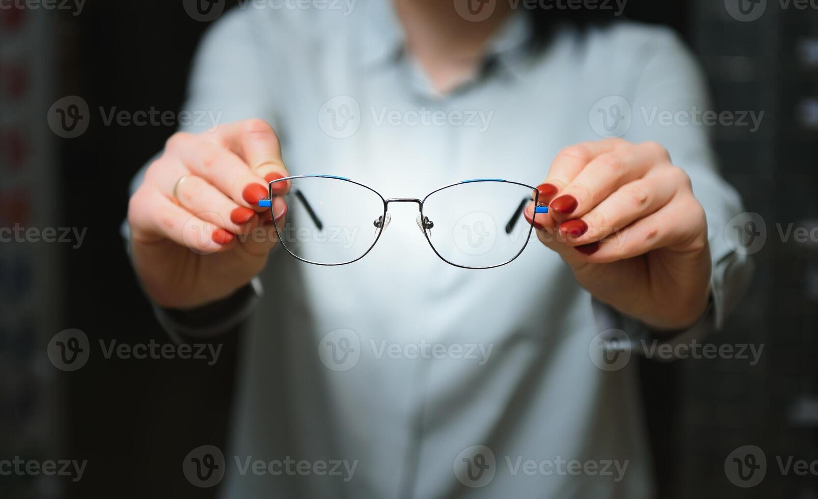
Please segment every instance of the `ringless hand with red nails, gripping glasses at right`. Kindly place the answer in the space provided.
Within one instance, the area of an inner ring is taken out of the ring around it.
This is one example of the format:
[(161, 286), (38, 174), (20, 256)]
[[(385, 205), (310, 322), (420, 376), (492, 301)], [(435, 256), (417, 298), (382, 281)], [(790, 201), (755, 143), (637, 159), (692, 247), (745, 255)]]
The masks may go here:
[[(537, 189), (549, 206), (534, 218), (537, 237), (597, 299), (662, 330), (702, 317), (711, 271), (704, 209), (662, 146), (569, 146)], [(533, 203), (529, 222), (532, 214)]]

